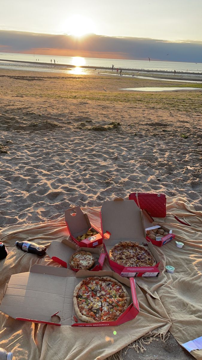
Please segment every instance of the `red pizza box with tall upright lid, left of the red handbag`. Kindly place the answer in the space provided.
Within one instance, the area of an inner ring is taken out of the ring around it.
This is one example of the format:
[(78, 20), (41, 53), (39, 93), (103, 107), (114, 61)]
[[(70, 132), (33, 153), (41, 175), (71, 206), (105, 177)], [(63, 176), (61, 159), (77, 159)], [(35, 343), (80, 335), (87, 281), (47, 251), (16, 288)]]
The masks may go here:
[(138, 242), (140, 245), (146, 243), (142, 212), (134, 201), (121, 198), (104, 201), (101, 207), (101, 227), (111, 269), (121, 276), (159, 276), (160, 258), (151, 242), (148, 243), (148, 249), (156, 260), (154, 266), (124, 267), (109, 257), (110, 249), (120, 241)]

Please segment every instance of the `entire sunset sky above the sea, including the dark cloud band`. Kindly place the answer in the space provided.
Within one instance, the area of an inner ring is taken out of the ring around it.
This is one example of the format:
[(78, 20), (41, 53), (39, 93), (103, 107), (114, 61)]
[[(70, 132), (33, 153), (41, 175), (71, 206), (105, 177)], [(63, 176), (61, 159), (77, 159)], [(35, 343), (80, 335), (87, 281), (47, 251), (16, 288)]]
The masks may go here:
[(201, 14), (202, 0), (1, 0), (0, 51), (202, 62)]

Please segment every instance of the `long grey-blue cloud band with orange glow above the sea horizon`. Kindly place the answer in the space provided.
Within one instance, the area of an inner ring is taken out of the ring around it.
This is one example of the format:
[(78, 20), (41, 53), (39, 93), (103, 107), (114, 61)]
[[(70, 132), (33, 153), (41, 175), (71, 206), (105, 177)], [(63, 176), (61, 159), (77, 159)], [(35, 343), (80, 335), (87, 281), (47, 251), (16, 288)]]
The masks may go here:
[[(201, 62), (202, 41), (142, 37), (52, 35), (0, 30), (0, 51), (112, 59)], [(169, 54), (169, 55), (167, 55)]]

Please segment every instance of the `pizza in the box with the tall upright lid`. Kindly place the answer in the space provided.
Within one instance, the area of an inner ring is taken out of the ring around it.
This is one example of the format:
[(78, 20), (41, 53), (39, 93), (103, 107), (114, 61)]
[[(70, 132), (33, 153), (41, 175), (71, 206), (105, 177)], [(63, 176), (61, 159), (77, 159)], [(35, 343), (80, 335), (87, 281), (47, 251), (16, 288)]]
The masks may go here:
[(156, 260), (148, 248), (132, 241), (122, 241), (114, 245), (109, 256), (111, 260), (125, 267), (156, 265)]

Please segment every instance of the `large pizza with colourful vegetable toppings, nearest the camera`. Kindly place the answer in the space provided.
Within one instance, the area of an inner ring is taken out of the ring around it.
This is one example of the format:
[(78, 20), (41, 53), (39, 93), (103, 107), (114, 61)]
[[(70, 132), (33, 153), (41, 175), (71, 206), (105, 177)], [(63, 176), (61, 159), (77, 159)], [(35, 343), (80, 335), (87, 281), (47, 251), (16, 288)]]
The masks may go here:
[(115, 321), (130, 304), (124, 286), (109, 276), (83, 279), (74, 290), (74, 309), (85, 323)]

